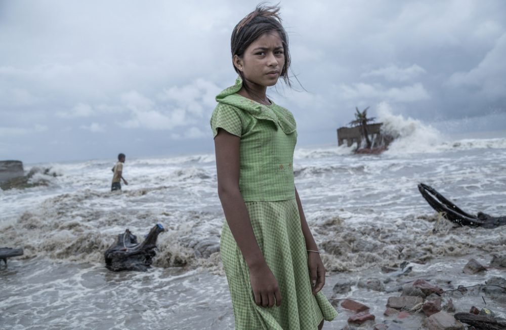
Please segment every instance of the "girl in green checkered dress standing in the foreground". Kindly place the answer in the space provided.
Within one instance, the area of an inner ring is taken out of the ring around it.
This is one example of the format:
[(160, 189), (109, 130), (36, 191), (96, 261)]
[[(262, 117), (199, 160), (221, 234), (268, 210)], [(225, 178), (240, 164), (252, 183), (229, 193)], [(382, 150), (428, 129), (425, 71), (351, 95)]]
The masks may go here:
[(236, 329), (316, 330), (335, 309), (320, 292), (325, 268), (293, 181), (296, 122), (266, 97), (290, 56), (278, 7), (259, 5), (232, 32), (235, 85), (210, 120), (226, 222), (221, 257)]

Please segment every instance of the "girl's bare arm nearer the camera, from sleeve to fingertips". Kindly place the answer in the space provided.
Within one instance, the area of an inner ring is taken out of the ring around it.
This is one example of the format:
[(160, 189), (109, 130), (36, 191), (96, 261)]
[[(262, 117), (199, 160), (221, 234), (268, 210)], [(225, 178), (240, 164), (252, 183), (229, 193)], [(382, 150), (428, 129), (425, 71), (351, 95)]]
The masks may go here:
[(228, 226), (249, 267), (251, 287), (258, 305), (281, 304), (278, 283), (265, 262), (239, 190), (240, 138), (219, 129), (215, 137), (218, 195)]

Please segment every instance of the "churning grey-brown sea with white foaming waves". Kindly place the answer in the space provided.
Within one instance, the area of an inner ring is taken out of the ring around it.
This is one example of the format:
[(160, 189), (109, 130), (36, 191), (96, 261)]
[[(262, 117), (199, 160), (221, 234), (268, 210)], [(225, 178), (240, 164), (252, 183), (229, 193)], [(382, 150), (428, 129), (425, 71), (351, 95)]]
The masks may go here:
[[(296, 149), (296, 185), (328, 271), (324, 293), (334, 296), (340, 278), (387, 276), (382, 268), (404, 261), (420, 278), (455, 287), (504, 276), (461, 270), (470, 258), (486, 265), (506, 250), (506, 226), (437, 221), (417, 184), (468, 213), (506, 215), (506, 138), (451, 139), (402, 118), (388, 127), (400, 137), (381, 155), (335, 145)], [(0, 329), (233, 328), (219, 257), (224, 217), (214, 154), (129, 157), (123, 176), (130, 184), (120, 193), (110, 192), (113, 164), (27, 164), (25, 170), (50, 168), (56, 177), (37, 174), (32, 180), (49, 184), (0, 190), (0, 247), (24, 249), (0, 266)], [(104, 251), (118, 234), (129, 228), (142, 240), (157, 223), (166, 231), (149, 271), (104, 267)], [(387, 296), (355, 286), (349, 296), (376, 315), (385, 309)], [(506, 307), (488, 303), (505, 315)], [(324, 329), (341, 329), (347, 318), (341, 312)]]

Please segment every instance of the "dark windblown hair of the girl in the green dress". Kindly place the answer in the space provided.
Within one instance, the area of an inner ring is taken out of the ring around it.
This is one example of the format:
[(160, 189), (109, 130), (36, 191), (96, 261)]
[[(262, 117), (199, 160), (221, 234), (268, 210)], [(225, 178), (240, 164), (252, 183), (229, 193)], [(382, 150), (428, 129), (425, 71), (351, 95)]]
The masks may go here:
[[(232, 31), (232, 37), (230, 40), (230, 48), (232, 51), (232, 58), (237, 55), (242, 58), (246, 48), (249, 47), (255, 40), (257, 40), (262, 34), (266, 32), (276, 31), (279, 33), (281, 37), (281, 42), (283, 43), (283, 53), (284, 53), (284, 66), (281, 69), (280, 76), (283, 77), (286, 85), (291, 86), (290, 79), (288, 77), (288, 68), (290, 67), (290, 52), (288, 51), (288, 36), (286, 35), (286, 31), (281, 25), (281, 18), (279, 17), (279, 7), (278, 6), (265, 6), (264, 3), (261, 3), (257, 6), (257, 8), (246, 15), (237, 25), (234, 27)], [(239, 71), (235, 65), (234, 70), (237, 72), (242, 80), (244, 81), (244, 76), (241, 71)]]

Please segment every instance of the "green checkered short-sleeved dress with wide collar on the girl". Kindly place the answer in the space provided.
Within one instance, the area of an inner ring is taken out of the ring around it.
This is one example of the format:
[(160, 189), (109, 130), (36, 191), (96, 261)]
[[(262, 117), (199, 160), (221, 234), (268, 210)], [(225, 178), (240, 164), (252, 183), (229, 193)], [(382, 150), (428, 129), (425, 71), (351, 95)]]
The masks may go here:
[(293, 115), (236, 94), (236, 84), (220, 93), (210, 120), (214, 135), (221, 128), (241, 138), (239, 189), (255, 237), (278, 281), (282, 303), (255, 303), (249, 271), (227, 222), (221, 257), (234, 307), (236, 329), (315, 330), (322, 319), (336, 315), (322, 292), (311, 292), (306, 243), (293, 183), (293, 149), (297, 142)]

